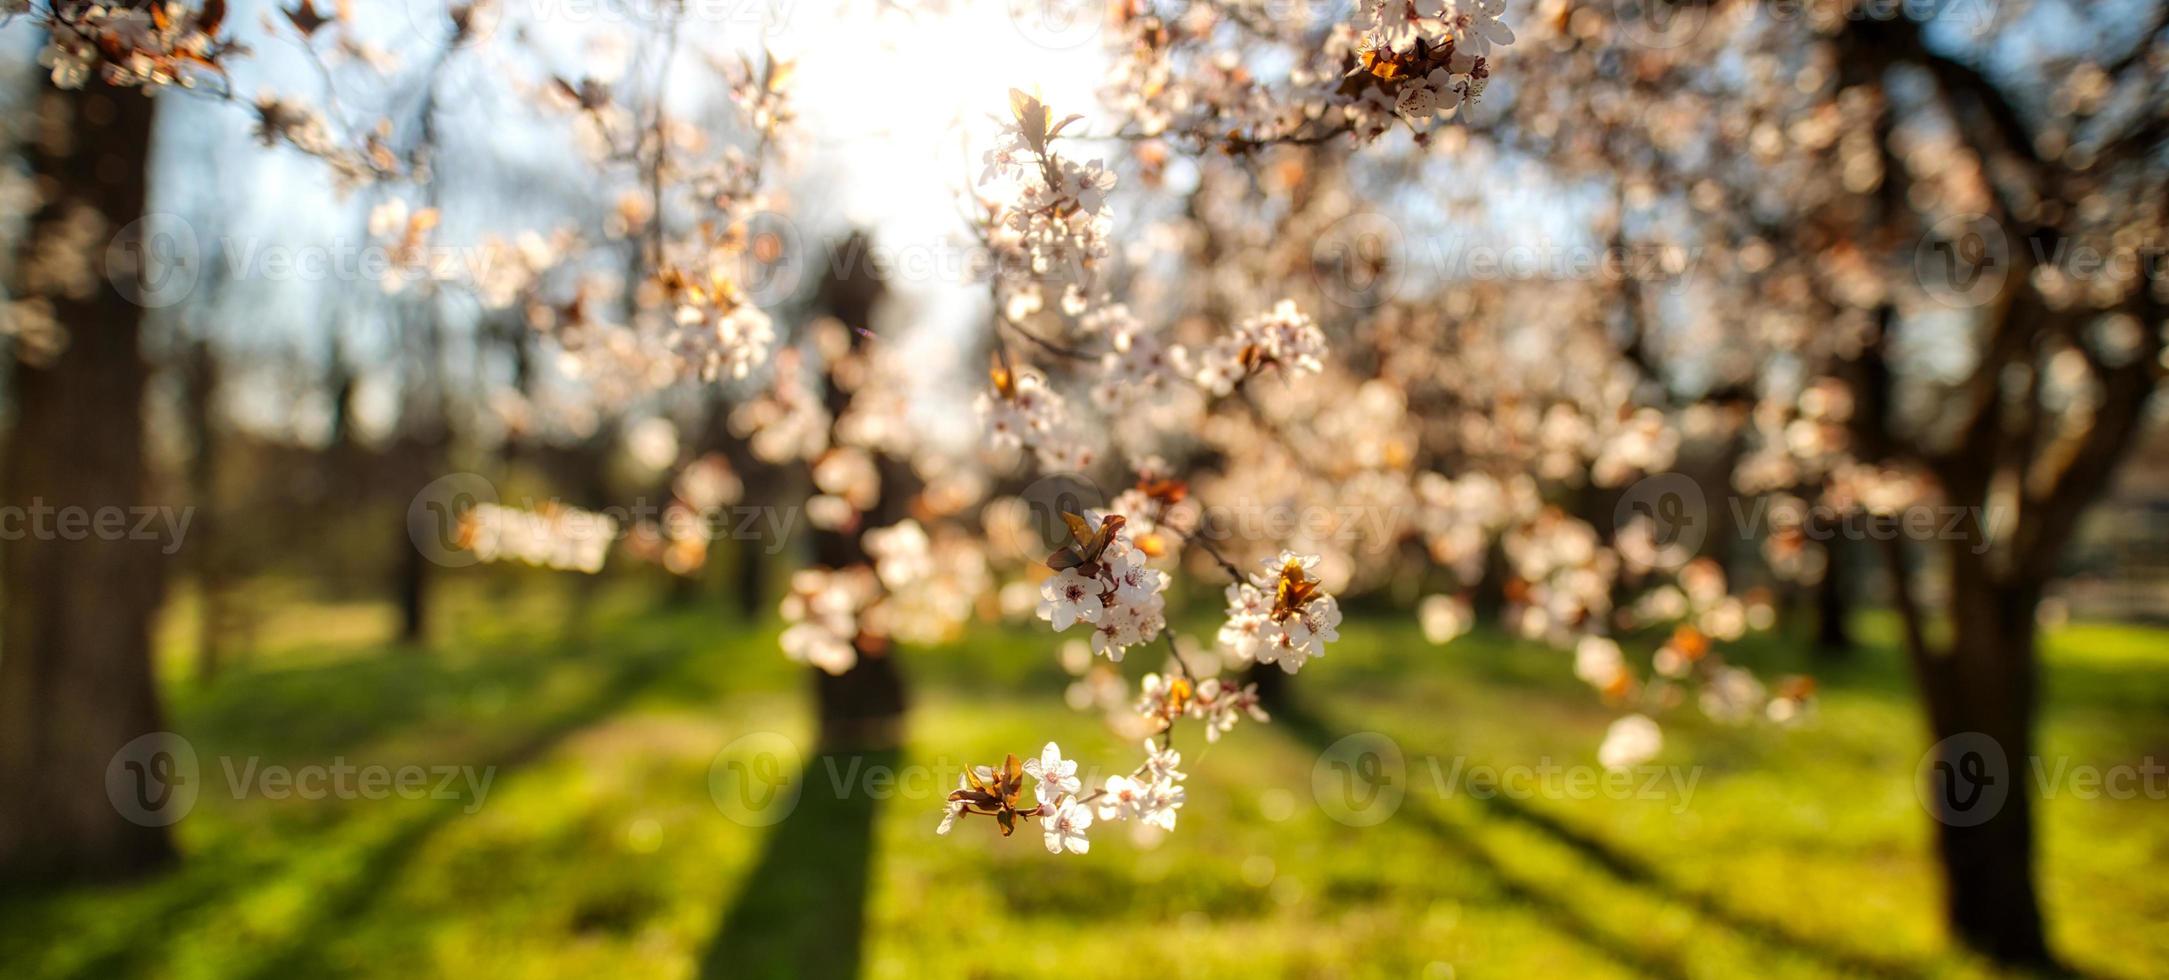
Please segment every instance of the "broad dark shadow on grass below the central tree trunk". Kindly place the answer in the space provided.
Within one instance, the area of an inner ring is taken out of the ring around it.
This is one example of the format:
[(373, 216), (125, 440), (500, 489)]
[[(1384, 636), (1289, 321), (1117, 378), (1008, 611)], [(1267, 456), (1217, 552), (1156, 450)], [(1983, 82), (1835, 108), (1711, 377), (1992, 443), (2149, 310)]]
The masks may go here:
[(798, 807), (768, 833), (759, 865), (701, 956), (703, 978), (859, 976), (874, 798), (833, 774), (894, 770), (896, 750), (822, 752), (798, 778)]

